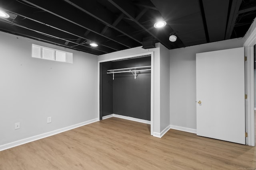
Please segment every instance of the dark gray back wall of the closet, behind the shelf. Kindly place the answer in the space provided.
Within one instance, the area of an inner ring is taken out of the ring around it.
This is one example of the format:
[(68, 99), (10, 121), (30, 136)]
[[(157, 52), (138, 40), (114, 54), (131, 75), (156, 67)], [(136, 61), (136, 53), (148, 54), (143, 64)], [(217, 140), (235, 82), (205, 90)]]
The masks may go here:
[[(150, 66), (151, 57), (115, 61), (112, 69)], [(150, 121), (151, 72), (141, 71), (136, 79), (131, 72), (114, 74), (113, 113)]]

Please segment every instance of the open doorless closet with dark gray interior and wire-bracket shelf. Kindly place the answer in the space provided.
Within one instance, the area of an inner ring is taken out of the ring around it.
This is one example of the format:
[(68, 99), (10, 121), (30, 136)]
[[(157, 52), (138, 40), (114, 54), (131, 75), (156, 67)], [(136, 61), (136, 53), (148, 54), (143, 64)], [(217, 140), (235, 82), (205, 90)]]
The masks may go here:
[(99, 121), (119, 117), (150, 124), (153, 54), (99, 61)]

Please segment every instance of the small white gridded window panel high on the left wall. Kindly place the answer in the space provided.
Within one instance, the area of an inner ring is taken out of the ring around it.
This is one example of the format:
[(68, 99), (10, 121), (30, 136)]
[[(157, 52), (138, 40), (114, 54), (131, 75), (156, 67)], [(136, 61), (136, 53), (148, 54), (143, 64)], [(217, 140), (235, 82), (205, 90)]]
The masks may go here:
[(66, 51), (59, 51), (48, 47), (32, 44), (32, 57), (73, 63), (73, 54)]

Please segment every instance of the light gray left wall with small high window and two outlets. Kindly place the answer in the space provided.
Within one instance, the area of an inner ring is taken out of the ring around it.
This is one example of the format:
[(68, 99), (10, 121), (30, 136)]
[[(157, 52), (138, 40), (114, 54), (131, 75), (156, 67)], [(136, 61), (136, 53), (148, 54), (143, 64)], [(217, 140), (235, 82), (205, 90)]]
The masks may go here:
[[(98, 117), (96, 55), (4, 32), (0, 37), (0, 145)], [(73, 53), (73, 64), (32, 58), (32, 43)]]

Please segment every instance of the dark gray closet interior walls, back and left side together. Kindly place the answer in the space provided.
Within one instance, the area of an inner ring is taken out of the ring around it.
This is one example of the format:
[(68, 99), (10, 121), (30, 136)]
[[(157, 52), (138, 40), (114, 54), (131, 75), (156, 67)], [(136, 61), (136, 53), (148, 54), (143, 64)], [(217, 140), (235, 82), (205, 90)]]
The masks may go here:
[(100, 63), (100, 119), (118, 114), (150, 121), (151, 72), (141, 71), (134, 79), (131, 72), (116, 73), (114, 80), (107, 70), (150, 66), (151, 57)]

